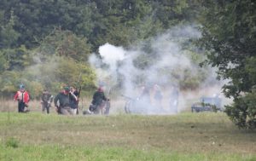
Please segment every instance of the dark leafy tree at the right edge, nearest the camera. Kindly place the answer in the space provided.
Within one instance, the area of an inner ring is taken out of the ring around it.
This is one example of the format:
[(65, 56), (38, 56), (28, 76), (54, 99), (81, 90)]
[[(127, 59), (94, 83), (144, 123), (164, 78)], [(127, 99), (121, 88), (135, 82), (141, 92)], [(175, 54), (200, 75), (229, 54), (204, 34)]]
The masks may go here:
[(226, 113), (240, 128), (256, 128), (256, 3), (251, 0), (209, 1), (201, 15), (201, 44), (218, 77), (230, 79), (224, 94), (234, 99)]

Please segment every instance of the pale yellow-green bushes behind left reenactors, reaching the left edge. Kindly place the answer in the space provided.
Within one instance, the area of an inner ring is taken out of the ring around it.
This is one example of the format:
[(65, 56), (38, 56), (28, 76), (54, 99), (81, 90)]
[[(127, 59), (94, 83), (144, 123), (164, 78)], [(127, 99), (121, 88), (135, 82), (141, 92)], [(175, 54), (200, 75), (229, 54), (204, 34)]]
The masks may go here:
[(66, 57), (52, 57), (52, 60), (27, 67), (22, 72), (3, 72), (0, 78), (0, 91), (5, 97), (14, 95), (20, 83), (25, 84), (32, 99), (40, 98), (45, 88), (55, 95), (64, 84), (81, 86), (84, 93), (91, 93), (96, 88), (96, 74), (90, 66)]

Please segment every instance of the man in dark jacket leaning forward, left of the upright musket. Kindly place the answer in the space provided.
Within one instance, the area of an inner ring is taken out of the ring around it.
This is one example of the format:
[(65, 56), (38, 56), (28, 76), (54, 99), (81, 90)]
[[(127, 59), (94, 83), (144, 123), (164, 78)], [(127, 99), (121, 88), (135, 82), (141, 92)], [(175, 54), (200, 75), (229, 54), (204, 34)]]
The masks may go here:
[[(69, 87), (64, 87), (64, 90), (55, 96), (54, 103), (59, 114), (73, 115), (71, 99), (73, 99), (73, 95), (70, 94)], [(59, 106), (57, 105), (57, 102), (59, 102)]]

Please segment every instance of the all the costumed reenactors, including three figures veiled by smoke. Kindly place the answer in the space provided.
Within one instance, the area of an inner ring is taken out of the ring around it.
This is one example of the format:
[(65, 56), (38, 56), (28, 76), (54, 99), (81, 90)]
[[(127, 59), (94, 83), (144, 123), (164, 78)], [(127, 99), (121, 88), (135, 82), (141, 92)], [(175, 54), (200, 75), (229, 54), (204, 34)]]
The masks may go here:
[[(89, 108), (82, 112), (83, 114), (107, 114), (110, 108), (109, 99), (104, 94), (103, 85), (99, 85), (98, 89), (92, 97)], [(143, 86), (142, 93), (139, 96), (139, 100), (143, 103), (143, 106), (151, 106), (150, 104), (150, 94), (149, 90), (151, 87)], [(47, 89), (44, 89), (41, 95), (41, 105), (42, 112), (49, 113), (49, 107), (51, 103), (54, 103), (55, 110), (58, 114), (63, 115), (77, 115), (79, 114), (79, 96), (80, 89), (75, 87), (64, 86), (58, 95), (50, 94)], [(160, 87), (154, 84), (154, 101), (156, 106), (162, 109), (161, 101), (163, 95), (161, 94)], [(178, 101), (178, 90), (177, 88), (172, 88), (172, 94), (170, 95), (170, 109), (172, 112), (177, 112), (177, 101)], [(16, 92), (14, 101), (18, 101), (18, 112), (28, 112), (28, 102), (30, 101), (29, 94), (25, 89), (23, 84), (20, 84), (20, 89)]]

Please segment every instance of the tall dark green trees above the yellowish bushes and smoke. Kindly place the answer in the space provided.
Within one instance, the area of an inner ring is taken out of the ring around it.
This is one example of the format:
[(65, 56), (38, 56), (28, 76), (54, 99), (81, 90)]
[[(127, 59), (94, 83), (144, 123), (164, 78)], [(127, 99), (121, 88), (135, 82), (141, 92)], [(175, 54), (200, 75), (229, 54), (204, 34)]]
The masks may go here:
[(199, 6), (197, 2), (187, 0), (9, 0), (0, 2), (0, 21), (5, 24), (15, 22), (12, 23), (13, 27), (3, 27), (15, 36), (9, 35), (9, 38), (17, 40), (11, 41), (15, 46), (24, 44), (33, 48), (53, 29), (58, 29), (87, 37), (93, 51), (96, 51), (106, 42), (130, 45), (133, 41), (152, 37), (186, 19), (190, 21), (195, 18), (195, 5)]

